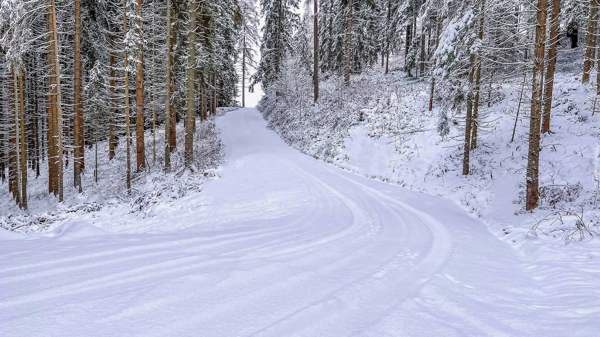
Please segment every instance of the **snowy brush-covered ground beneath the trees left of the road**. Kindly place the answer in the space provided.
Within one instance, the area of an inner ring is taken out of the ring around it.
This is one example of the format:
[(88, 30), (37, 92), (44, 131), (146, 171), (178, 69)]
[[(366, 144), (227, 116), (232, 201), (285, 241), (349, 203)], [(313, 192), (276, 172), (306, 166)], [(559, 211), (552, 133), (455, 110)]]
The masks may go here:
[[(219, 108), (217, 115), (223, 115), (232, 108)], [(157, 128), (155, 140), (151, 131), (146, 131), (146, 163), (148, 169), (135, 172), (135, 150), (131, 148), (132, 182), (127, 191), (125, 181), (125, 138), (119, 140), (115, 149), (116, 157), (108, 160), (107, 142), (98, 143), (98, 180), (94, 177), (95, 148), (85, 148), (86, 170), (82, 174), (83, 193), (73, 188), (72, 166), (65, 167), (65, 201), (47, 192), (47, 161), (40, 163), (41, 175), (35, 177), (29, 171), (28, 211), (19, 209), (8, 194), (8, 183), (0, 185), (2, 197), (0, 205), (4, 210), (0, 215), (0, 228), (24, 233), (48, 232), (83, 213), (108, 212), (112, 216), (127, 214), (154, 216), (155, 207), (173, 200), (202, 191), (203, 182), (219, 176), (218, 165), (223, 158), (215, 117), (196, 123), (194, 133), (194, 165), (192, 170), (184, 169), (184, 125), (176, 125), (178, 147), (172, 154), (172, 170), (164, 174), (164, 128)], [(156, 159), (152, 149), (155, 149)], [(72, 161), (70, 161), (72, 163)], [(71, 164), (72, 165), (72, 164)], [(94, 216), (94, 215), (92, 215)]]

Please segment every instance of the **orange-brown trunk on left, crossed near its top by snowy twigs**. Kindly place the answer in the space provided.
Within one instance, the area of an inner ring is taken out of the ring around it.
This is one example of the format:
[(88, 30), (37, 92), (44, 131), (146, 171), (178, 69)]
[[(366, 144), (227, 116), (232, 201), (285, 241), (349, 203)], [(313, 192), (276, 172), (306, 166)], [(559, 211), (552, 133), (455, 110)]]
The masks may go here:
[[(137, 0), (137, 16), (142, 17), (142, 0)], [(137, 20), (137, 25), (142, 26), (142, 20)], [(143, 44), (137, 46), (140, 50), (139, 62), (136, 73), (136, 161), (137, 171), (146, 168), (146, 154), (144, 146), (144, 59)]]

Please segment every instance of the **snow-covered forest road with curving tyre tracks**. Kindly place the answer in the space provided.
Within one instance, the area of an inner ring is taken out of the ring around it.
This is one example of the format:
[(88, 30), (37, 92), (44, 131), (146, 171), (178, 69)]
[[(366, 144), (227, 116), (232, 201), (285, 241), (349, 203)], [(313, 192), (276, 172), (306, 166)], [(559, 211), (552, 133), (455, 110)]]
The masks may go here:
[(110, 233), (3, 240), (0, 335), (597, 335), (590, 280), (527, 262), (451, 201), (307, 157), (256, 109), (218, 124), (205, 191), (94, 218)]

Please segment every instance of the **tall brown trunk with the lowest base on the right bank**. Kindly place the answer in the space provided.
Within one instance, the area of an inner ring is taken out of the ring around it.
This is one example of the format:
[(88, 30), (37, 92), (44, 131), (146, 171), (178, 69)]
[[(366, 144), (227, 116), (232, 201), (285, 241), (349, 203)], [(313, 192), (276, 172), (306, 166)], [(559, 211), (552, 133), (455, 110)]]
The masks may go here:
[(538, 206), (539, 199), (539, 136), (542, 115), (542, 91), (544, 90), (544, 54), (548, 0), (538, 0), (538, 24), (535, 27), (533, 49), (533, 86), (531, 115), (529, 121), (529, 151), (527, 152), (526, 210)]

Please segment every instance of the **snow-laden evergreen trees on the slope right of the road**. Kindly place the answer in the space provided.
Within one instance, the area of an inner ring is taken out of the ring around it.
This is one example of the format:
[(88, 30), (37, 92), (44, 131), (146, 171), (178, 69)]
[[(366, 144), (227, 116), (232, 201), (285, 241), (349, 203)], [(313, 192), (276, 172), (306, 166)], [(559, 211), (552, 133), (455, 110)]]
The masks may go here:
[[(314, 0), (302, 2), (303, 8), (292, 0), (261, 4), (265, 26), (254, 83), (262, 81), (266, 94), (274, 97), (270, 102), (278, 102), (289, 82), (278, 77), (284, 67), (293, 76), (313, 79), (310, 97), (318, 103), (319, 79), (340, 76), (346, 86), (341, 91), (360, 86), (351, 83), (351, 74), (376, 65), (388, 74), (394, 56), (407, 76), (428, 82), (429, 111), (437, 103), (462, 112), (464, 175), (482, 132), (482, 107), (490, 107), (503, 83), (521, 76), (520, 83), (511, 84), (528, 88), (531, 97), (525, 116), (530, 120), (524, 154), (526, 210), (538, 206), (540, 139), (551, 133), (557, 49), (585, 49), (583, 83), (598, 73), (596, 62), (600, 70), (595, 0)], [(571, 45), (561, 45), (561, 38), (571, 38)], [(578, 46), (580, 39), (586, 43)]]

